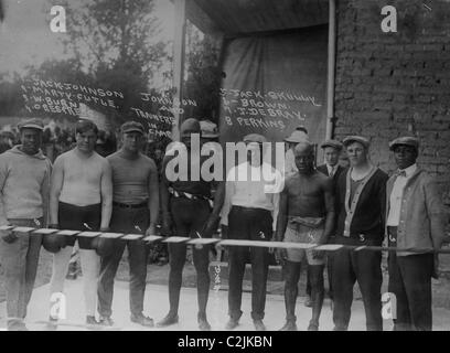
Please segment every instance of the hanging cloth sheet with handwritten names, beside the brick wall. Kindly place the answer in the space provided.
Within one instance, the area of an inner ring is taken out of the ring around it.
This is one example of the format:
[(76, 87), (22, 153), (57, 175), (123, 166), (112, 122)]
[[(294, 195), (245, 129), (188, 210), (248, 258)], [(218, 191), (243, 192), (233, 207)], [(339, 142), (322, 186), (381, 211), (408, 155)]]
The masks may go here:
[(224, 44), (221, 142), (261, 133), (282, 141), (304, 125), (325, 138), (328, 25), (236, 38)]

